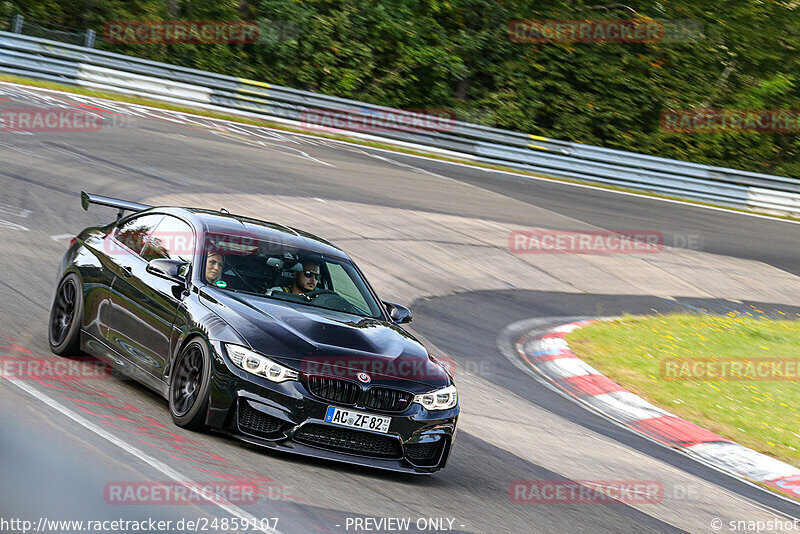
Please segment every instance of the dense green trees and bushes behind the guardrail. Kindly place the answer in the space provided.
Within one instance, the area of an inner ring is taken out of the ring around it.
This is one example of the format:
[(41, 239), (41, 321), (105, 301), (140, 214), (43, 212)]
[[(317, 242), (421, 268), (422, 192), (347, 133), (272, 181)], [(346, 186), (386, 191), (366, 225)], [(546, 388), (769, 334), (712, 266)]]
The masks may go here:
[[(664, 132), (670, 109), (800, 110), (800, 0), (0, 0), (45, 27), (254, 20), (252, 45), (99, 46), (157, 61), (546, 137), (800, 177), (800, 135)], [(654, 18), (703, 38), (520, 44), (514, 19)]]

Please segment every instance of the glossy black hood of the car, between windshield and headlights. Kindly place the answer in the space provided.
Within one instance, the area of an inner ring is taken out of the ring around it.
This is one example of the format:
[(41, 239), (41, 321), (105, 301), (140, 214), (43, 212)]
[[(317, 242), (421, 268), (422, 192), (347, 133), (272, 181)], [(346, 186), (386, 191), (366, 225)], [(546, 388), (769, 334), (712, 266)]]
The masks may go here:
[(365, 372), (370, 383), (394, 387), (450, 383), (419, 341), (386, 321), (216, 288), (200, 300), (253, 350), (304, 373), (355, 380)]

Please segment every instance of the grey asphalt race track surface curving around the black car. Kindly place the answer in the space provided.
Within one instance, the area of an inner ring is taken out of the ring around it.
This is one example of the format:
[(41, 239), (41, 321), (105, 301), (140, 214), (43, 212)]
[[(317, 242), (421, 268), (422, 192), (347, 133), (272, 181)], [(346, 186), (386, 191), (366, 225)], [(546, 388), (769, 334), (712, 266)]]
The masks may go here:
[[(71, 236), (114, 217), (110, 209), (81, 210), (80, 190), (138, 202), (205, 202), (232, 212), (239, 209), (234, 199), (255, 198), (249, 207), (243, 201), (242, 209), (267, 220), (278, 218), (312, 231), (315, 225), (335, 223), (338, 234), (322, 236), (350, 251), (359, 265), (364, 262), (380, 295), (410, 305), (411, 330), (430, 343), (432, 352), (456, 361), (462, 370), (456, 381), (463, 406), (447, 468), (413, 477), (276, 454), (179, 429), (162, 400), (116, 375), (67, 383), (5, 377), (0, 380), (0, 517), (34, 524), (41, 518), (154, 518), (173, 525), (277, 518), (277, 525), (272, 519), (260, 525), (290, 533), (397, 532), (391, 523), (379, 521), (403, 518), (410, 520), (403, 531), (411, 532), (733, 532), (727, 526), (713, 530), (711, 521), (719, 518), (727, 525), (800, 517), (794, 503), (586, 412), (521, 374), (497, 345), (507, 325), (537, 317), (556, 325), (559, 319), (551, 318), (676, 309), (758, 309), (796, 316), (800, 307), (791, 304), (800, 305), (800, 298), (793, 293), (771, 298), (777, 291), (764, 289), (761, 299), (716, 298), (699, 296), (704, 292), (627, 293), (621, 284), (613, 291), (587, 291), (574, 279), (539, 284), (535, 276), (544, 280), (551, 275), (527, 265), (530, 275), (509, 269), (508, 279), (493, 275), (491, 283), (484, 283), (480, 269), (470, 275), (471, 265), (447, 263), (433, 249), (417, 248), (414, 239), (359, 241), (372, 231), (427, 232), (428, 246), (453, 245), (450, 237), (439, 238), (439, 220), (488, 220), (515, 228), (646, 228), (661, 231), (667, 245), (699, 237), (698, 254), (741, 264), (741, 276), (758, 263), (764, 272), (780, 269), (791, 281), (800, 275), (795, 259), (800, 225), (266, 129), (222, 127), (87, 99), (76, 102), (66, 94), (9, 85), (0, 85), (0, 105), (93, 110), (117, 121), (96, 132), (0, 130), (4, 361), (55, 359), (46, 327), (57, 262)], [(218, 204), (215, 198), (227, 202)], [(270, 206), (271, 199), (286, 209), (270, 213), (259, 208)], [(329, 211), (315, 222), (313, 216), (322, 210)], [(288, 220), (292, 213), (296, 219)], [(431, 226), (411, 222), (419, 220)], [(462, 233), (471, 235), (481, 226), (469, 228)], [(507, 233), (498, 235), (502, 248)], [(401, 246), (406, 247), (402, 254), (394, 248)], [(392, 254), (408, 256), (415, 250), (421, 252), (402, 269), (381, 265), (381, 258), (389, 261)], [(482, 250), (474, 247), (475, 254)], [(514, 276), (530, 283), (509, 282)], [(774, 276), (765, 276), (764, 284), (767, 278)], [(258, 486), (259, 495), (255, 503), (226, 508), (120, 505), (108, 502), (104, 493), (111, 483), (174, 479), (247, 481)], [(515, 503), (509, 487), (516, 480), (657, 480), (664, 498), (644, 504)], [(209, 531), (224, 531), (217, 525)], [(0, 531), (16, 532), (2, 525)]]

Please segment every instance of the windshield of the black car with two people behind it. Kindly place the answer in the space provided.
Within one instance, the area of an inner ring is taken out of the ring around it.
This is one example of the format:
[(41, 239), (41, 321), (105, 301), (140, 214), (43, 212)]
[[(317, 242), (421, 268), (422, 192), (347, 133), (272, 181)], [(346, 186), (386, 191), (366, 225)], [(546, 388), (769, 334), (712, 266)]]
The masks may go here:
[(349, 260), (236, 235), (208, 234), (204, 248), (202, 277), (220, 289), (382, 318)]

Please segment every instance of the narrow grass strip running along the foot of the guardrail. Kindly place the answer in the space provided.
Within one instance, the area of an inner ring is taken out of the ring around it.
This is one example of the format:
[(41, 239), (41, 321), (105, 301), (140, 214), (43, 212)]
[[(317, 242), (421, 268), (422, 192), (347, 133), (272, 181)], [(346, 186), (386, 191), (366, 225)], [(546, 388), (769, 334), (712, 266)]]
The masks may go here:
[(519, 174), (519, 175), (522, 175), (522, 176), (531, 176), (531, 177), (536, 177), (536, 178), (546, 178), (548, 180), (553, 180), (553, 181), (556, 181), (556, 182), (565, 182), (565, 183), (581, 184), (581, 185), (591, 185), (592, 187), (597, 187), (599, 189), (608, 189), (609, 191), (621, 191), (621, 192), (624, 192), (624, 193), (635, 193), (637, 195), (644, 195), (644, 196), (653, 197), (653, 198), (664, 198), (664, 199), (668, 199), (668, 200), (678, 200), (680, 202), (685, 202), (687, 204), (696, 204), (696, 205), (699, 205), (699, 206), (722, 207), (722, 208), (730, 210), (730, 211), (738, 211), (738, 212), (742, 212), (742, 213), (763, 213), (764, 215), (768, 215), (768, 216), (774, 217), (776, 219), (788, 219), (788, 220), (797, 220), (798, 219), (797, 217), (792, 217), (790, 215), (775, 215), (775, 214), (770, 214), (770, 213), (766, 213), (766, 212), (758, 212), (757, 210), (746, 210), (746, 209), (736, 208), (736, 207), (732, 207), (732, 206), (720, 206), (718, 204), (713, 204), (713, 203), (710, 203), (710, 202), (701, 202), (701, 201), (697, 201), (697, 200), (689, 200), (689, 199), (684, 199), (684, 198), (671, 196), (671, 195), (662, 195), (662, 194), (659, 194), (659, 193), (652, 193), (650, 191), (640, 191), (640, 190), (636, 190), (636, 189), (629, 189), (629, 188), (626, 188), (626, 187), (617, 187), (617, 186), (613, 186), (613, 185), (582, 182), (580, 180), (571, 180), (571, 179), (568, 179), (568, 178), (557, 178), (557, 177), (554, 177), (554, 176), (548, 176), (546, 174), (541, 174), (541, 173), (535, 173), (535, 172), (529, 172), (529, 171), (524, 171), (524, 170), (520, 170), (520, 169), (515, 169), (513, 167), (505, 167), (505, 166), (502, 166), (502, 165), (491, 165), (491, 164), (488, 164), (488, 163), (479, 163), (479, 162), (470, 161), (470, 160), (464, 160), (464, 159), (459, 159), (459, 158), (454, 158), (454, 157), (443, 156), (441, 154), (436, 154), (436, 153), (431, 153), (431, 152), (424, 152), (424, 151), (420, 151), (420, 150), (411, 150), (411, 149), (403, 148), (403, 147), (400, 147), (400, 146), (397, 146), (397, 145), (388, 144), (388, 143), (376, 143), (376, 142), (372, 142), (372, 141), (366, 141), (366, 140), (363, 140), (363, 139), (359, 139), (357, 137), (348, 137), (348, 136), (345, 136), (345, 135), (334, 135), (334, 134), (328, 134), (328, 133), (321, 133), (321, 132), (313, 131), (313, 130), (303, 130), (301, 128), (293, 128), (291, 126), (287, 126), (287, 125), (282, 124), (282, 123), (271, 122), (271, 121), (268, 121), (268, 120), (252, 119), (252, 118), (244, 117), (244, 116), (241, 116), (241, 115), (219, 113), (219, 112), (209, 111), (209, 110), (203, 109), (203, 108), (192, 108), (192, 107), (186, 107), (186, 106), (177, 106), (175, 104), (170, 104), (168, 102), (162, 102), (162, 101), (159, 101), (159, 100), (153, 100), (153, 99), (149, 99), (149, 98), (141, 98), (141, 97), (129, 96), (129, 95), (126, 95), (126, 94), (123, 94), (123, 93), (113, 93), (113, 92), (110, 92), (110, 91), (97, 91), (97, 90), (94, 90), (94, 89), (86, 89), (84, 87), (77, 87), (77, 86), (74, 86), (74, 85), (68, 85), (68, 84), (63, 84), (63, 83), (55, 83), (55, 82), (47, 82), (47, 81), (42, 81), (42, 80), (34, 80), (34, 79), (31, 79), (31, 78), (23, 78), (23, 77), (20, 77), (20, 76), (13, 76), (13, 75), (10, 75), (10, 74), (0, 74), (0, 81), (19, 83), (19, 84), (23, 84), (23, 85), (30, 85), (32, 87), (43, 87), (43, 88), (46, 88), (46, 89), (55, 89), (55, 90), (58, 90), (58, 91), (64, 91), (64, 92), (67, 92), (67, 93), (75, 93), (75, 94), (79, 94), (79, 95), (96, 96), (96, 97), (99, 97), (99, 98), (108, 98), (110, 100), (117, 100), (117, 101), (120, 101), (120, 102), (130, 102), (130, 103), (133, 103), (133, 104), (141, 104), (143, 106), (151, 106), (151, 107), (154, 107), (154, 108), (169, 109), (169, 110), (173, 110), (173, 111), (182, 111), (182, 112), (185, 112), (185, 113), (193, 113), (195, 115), (200, 115), (200, 116), (203, 116), (203, 117), (212, 117), (212, 118), (216, 118), (216, 119), (224, 119), (224, 120), (229, 120), (229, 121), (233, 121), (233, 122), (240, 122), (240, 123), (243, 123), (243, 124), (253, 124), (253, 125), (256, 125), (256, 126), (265, 126), (265, 127), (268, 127), (268, 128), (274, 128), (276, 130), (284, 130), (284, 131), (287, 131), (287, 132), (302, 133), (302, 134), (306, 134), (306, 135), (313, 135), (315, 137), (321, 137), (321, 138), (324, 138), (324, 139), (333, 139), (333, 140), (337, 140), (337, 141), (346, 141), (348, 143), (353, 143), (353, 144), (356, 144), (356, 145), (362, 145), (362, 146), (366, 146), (366, 147), (382, 148), (382, 149), (385, 149), (385, 150), (391, 150), (393, 152), (398, 152), (398, 153), (401, 153), (401, 154), (424, 156), (426, 158), (436, 159), (436, 160), (440, 160), (440, 161), (449, 161), (449, 162), (452, 162), (452, 163), (460, 163), (462, 165), (470, 165), (472, 167), (480, 167), (480, 168), (485, 168), (485, 169), (493, 169), (493, 170), (498, 170), (498, 171), (503, 171), (503, 172), (510, 172), (510, 173)]

